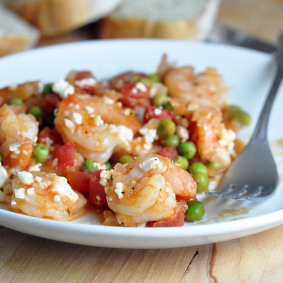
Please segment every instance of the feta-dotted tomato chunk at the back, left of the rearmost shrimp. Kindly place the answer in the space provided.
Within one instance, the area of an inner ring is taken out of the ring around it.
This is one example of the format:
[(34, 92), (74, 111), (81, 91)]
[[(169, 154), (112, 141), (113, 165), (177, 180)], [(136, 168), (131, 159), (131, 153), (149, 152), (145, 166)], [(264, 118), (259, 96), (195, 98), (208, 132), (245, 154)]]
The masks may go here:
[(126, 107), (134, 107), (135, 105), (149, 105), (149, 89), (145, 86), (145, 90), (140, 90), (136, 87), (136, 82), (124, 83), (120, 93), (122, 97), (119, 99)]

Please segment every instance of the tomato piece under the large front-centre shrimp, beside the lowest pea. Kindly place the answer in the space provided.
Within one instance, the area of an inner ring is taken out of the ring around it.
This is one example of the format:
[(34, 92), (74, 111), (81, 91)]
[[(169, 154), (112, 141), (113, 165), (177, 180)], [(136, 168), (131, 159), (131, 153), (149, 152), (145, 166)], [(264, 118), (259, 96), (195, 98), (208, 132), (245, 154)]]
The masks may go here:
[(187, 204), (185, 202), (178, 202), (174, 213), (170, 217), (151, 221), (147, 223), (149, 227), (175, 227), (183, 226), (185, 221), (185, 212), (187, 210)]

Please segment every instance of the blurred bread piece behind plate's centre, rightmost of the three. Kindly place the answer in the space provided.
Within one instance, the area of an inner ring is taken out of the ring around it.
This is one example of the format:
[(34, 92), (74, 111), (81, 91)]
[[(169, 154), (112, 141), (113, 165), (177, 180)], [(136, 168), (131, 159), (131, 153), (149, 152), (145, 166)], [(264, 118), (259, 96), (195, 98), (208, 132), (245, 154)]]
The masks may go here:
[(219, 0), (126, 0), (102, 20), (101, 38), (204, 39)]

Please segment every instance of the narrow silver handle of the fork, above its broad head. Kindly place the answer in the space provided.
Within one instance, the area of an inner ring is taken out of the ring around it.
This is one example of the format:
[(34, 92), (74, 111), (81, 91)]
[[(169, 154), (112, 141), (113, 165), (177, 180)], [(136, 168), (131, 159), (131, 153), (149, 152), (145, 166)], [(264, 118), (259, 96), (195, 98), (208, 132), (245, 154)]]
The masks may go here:
[(283, 78), (283, 59), (282, 58), (283, 58), (283, 49), (278, 51), (277, 58), (276, 58), (277, 59), (276, 76), (271, 86), (268, 97), (266, 101), (264, 102), (263, 108), (260, 112), (259, 119), (257, 121), (251, 141), (255, 139), (261, 140), (261, 141), (267, 140), (267, 128), (268, 128), (270, 112), (272, 109), (272, 105), (273, 105), (278, 87), (280, 86), (281, 80)]

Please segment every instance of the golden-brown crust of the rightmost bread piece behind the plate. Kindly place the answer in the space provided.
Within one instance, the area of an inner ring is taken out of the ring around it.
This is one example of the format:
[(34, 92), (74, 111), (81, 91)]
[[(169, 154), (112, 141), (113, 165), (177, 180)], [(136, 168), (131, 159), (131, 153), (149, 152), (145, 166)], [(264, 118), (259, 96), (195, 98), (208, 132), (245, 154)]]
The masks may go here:
[(196, 22), (155, 21), (141, 17), (109, 15), (101, 22), (100, 37), (107, 38), (169, 38), (196, 39)]

